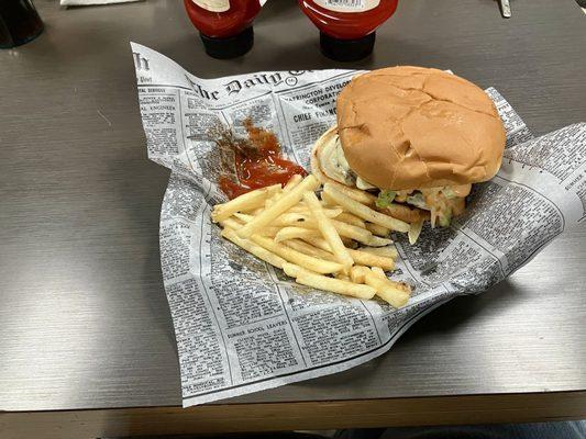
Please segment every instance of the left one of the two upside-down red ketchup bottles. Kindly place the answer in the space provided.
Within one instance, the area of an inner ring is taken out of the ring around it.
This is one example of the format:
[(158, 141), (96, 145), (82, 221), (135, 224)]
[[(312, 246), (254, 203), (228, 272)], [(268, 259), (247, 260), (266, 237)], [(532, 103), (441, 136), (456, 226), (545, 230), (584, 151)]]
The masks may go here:
[(248, 52), (254, 43), (252, 22), (266, 0), (184, 0), (189, 20), (199, 31), (206, 53), (220, 59)]

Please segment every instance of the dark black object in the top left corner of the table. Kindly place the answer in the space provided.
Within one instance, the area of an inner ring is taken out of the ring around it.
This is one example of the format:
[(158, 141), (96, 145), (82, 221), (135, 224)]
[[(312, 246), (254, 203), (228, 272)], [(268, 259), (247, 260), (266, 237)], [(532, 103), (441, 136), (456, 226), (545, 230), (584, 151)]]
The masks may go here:
[(43, 27), (31, 0), (0, 0), (0, 48), (29, 43)]

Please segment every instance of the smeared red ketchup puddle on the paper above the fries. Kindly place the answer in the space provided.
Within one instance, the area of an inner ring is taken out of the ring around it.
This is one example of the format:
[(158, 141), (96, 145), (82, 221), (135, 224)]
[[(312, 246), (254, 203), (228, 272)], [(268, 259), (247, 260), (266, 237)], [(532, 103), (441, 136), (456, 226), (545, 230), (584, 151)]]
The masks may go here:
[(250, 120), (244, 121), (244, 127), (248, 134), (246, 145), (231, 145), (234, 149), (235, 176), (231, 178), (224, 175), (219, 180), (220, 189), (230, 200), (254, 189), (284, 185), (296, 173), (307, 175), (299, 165), (280, 156), (280, 144), (274, 133), (254, 126)]

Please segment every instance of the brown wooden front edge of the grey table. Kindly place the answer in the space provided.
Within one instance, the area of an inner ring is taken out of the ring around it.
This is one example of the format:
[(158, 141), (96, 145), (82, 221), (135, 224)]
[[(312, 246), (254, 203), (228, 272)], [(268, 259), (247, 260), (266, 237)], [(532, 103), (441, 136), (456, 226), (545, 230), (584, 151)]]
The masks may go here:
[(0, 413), (3, 439), (340, 429), (586, 418), (586, 391)]

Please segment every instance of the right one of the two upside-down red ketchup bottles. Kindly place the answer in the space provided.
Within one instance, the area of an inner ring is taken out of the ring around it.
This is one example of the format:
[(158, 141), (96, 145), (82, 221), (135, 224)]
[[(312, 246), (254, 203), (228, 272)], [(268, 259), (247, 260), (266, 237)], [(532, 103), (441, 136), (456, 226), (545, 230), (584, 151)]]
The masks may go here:
[(298, 0), (320, 30), (321, 52), (355, 61), (373, 52), (376, 29), (395, 13), (399, 0)]

